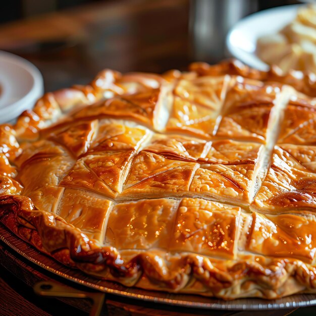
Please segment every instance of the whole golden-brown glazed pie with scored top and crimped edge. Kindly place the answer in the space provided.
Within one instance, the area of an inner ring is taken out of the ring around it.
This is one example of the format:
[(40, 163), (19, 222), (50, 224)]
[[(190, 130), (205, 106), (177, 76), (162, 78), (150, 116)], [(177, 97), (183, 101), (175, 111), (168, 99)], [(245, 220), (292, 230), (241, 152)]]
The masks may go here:
[(315, 130), (312, 75), (105, 70), (0, 126), (0, 220), (125, 286), (315, 293)]

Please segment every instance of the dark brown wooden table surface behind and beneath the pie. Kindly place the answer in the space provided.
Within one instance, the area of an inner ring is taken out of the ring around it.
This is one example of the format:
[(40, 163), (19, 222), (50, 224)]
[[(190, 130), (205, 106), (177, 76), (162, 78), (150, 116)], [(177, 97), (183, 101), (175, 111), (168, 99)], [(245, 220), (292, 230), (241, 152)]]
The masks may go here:
[[(0, 25), (0, 49), (22, 56), (38, 67), (45, 91), (87, 83), (104, 68), (157, 73), (172, 68), (185, 70), (194, 61), (188, 33), (189, 7), (189, 0), (117, 0), (78, 7)], [(212, 57), (209, 61), (213, 61)], [(9, 258), (10, 252), (4, 245), (0, 244), (0, 250), (2, 261)], [(12, 268), (14, 264), (9, 266)], [(0, 315), (88, 314), (65, 301), (39, 298), (17, 271), (7, 268), (0, 266)], [(188, 312), (146, 303), (135, 305), (135, 302), (113, 297), (107, 301), (104, 314), (179, 316)], [(238, 316), (291, 313), (297, 316), (316, 315), (316, 308), (193, 312), (197, 313)]]

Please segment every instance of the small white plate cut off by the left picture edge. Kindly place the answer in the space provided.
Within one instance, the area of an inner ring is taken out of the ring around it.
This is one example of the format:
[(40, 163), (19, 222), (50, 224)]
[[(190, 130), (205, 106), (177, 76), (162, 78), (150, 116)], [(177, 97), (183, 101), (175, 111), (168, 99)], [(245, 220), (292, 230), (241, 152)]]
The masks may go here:
[(43, 91), (42, 75), (33, 64), (0, 51), (0, 123), (31, 109)]

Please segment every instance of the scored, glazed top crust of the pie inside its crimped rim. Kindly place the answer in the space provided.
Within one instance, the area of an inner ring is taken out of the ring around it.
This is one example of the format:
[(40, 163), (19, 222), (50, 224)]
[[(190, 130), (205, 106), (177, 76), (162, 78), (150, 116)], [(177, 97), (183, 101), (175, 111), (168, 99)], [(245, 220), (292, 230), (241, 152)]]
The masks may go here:
[(131, 82), (25, 144), (22, 194), (119, 250), (313, 262), (313, 100), (230, 75)]

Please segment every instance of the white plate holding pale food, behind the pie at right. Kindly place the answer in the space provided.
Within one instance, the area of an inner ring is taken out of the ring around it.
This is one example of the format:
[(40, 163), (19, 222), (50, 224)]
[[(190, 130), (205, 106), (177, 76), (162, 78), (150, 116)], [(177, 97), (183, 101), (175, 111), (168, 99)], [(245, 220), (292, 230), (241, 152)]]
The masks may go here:
[(228, 51), (233, 57), (253, 68), (268, 70), (269, 66), (255, 55), (257, 39), (263, 35), (278, 33), (295, 19), (300, 6), (302, 5), (276, 7), (240, 20), (227, 34)]

